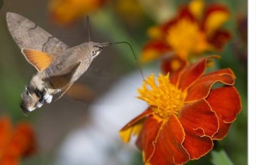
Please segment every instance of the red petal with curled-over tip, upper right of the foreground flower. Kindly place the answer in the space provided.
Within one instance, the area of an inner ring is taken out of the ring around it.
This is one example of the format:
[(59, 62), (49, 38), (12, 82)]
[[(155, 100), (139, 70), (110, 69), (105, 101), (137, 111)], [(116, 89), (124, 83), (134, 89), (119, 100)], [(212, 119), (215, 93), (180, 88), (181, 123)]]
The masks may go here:
[(234, 84), (234, 74), (231, 69), (221, 69), (202, 76), (187, 92), (186, 102), (204, 99), (209, 95), (211, 86), (216, 82), (226, 85)]

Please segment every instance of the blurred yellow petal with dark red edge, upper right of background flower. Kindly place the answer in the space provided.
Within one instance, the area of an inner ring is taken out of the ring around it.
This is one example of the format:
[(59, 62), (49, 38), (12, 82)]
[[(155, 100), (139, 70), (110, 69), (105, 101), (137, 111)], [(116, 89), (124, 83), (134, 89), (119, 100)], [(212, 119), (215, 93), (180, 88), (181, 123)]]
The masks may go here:
[(205, 12), (204, 29), (206, 34), (211, 35), (219, 29), (228, 19), (229, 11), (222, 5), (211, 5)]

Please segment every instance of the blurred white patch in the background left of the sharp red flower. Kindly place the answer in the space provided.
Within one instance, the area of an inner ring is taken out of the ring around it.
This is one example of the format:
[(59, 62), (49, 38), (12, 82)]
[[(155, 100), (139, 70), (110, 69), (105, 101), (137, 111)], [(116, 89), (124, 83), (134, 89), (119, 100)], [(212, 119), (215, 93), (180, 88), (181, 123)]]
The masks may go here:
[[(153, 71), (154, 70), (154, 71)], [(156, 68), (144, 69), (145, 75)], [(142, 85), (139, 72), (126, 75), (116, 82), (91, 106), (89, 126), (74, 130), (63, 140), (56, 165), (121, 165), (131, 164), (138, 152), (134, 142), (126, 145), (119, 137), (119, 130), (145, 110), (147, 104), (136, 98), (137, 88)]]

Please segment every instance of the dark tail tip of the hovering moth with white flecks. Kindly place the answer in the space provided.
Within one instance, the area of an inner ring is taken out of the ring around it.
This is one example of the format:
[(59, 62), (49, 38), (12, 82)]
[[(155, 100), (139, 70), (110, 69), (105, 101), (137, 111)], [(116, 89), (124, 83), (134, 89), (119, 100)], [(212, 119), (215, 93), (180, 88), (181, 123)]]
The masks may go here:
[(22, 93), (22, 102), (20, 103), (20, 108), (22, 108), (25, 115), (28, 115), (29, 112), (36, 109), (38, 104), (39, 97), (35, 92), (31, 92), (26, 87)]

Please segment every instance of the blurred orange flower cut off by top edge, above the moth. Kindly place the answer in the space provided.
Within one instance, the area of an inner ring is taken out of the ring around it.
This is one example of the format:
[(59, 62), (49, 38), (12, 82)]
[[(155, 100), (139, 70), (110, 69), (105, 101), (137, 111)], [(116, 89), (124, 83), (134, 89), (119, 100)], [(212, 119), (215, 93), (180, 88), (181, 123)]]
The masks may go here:
[(97, 10), (105, 1), (106, 0), (51, 0), (49, 9), (55, 21), (62, 25), (67, 25), (79, 17)]

